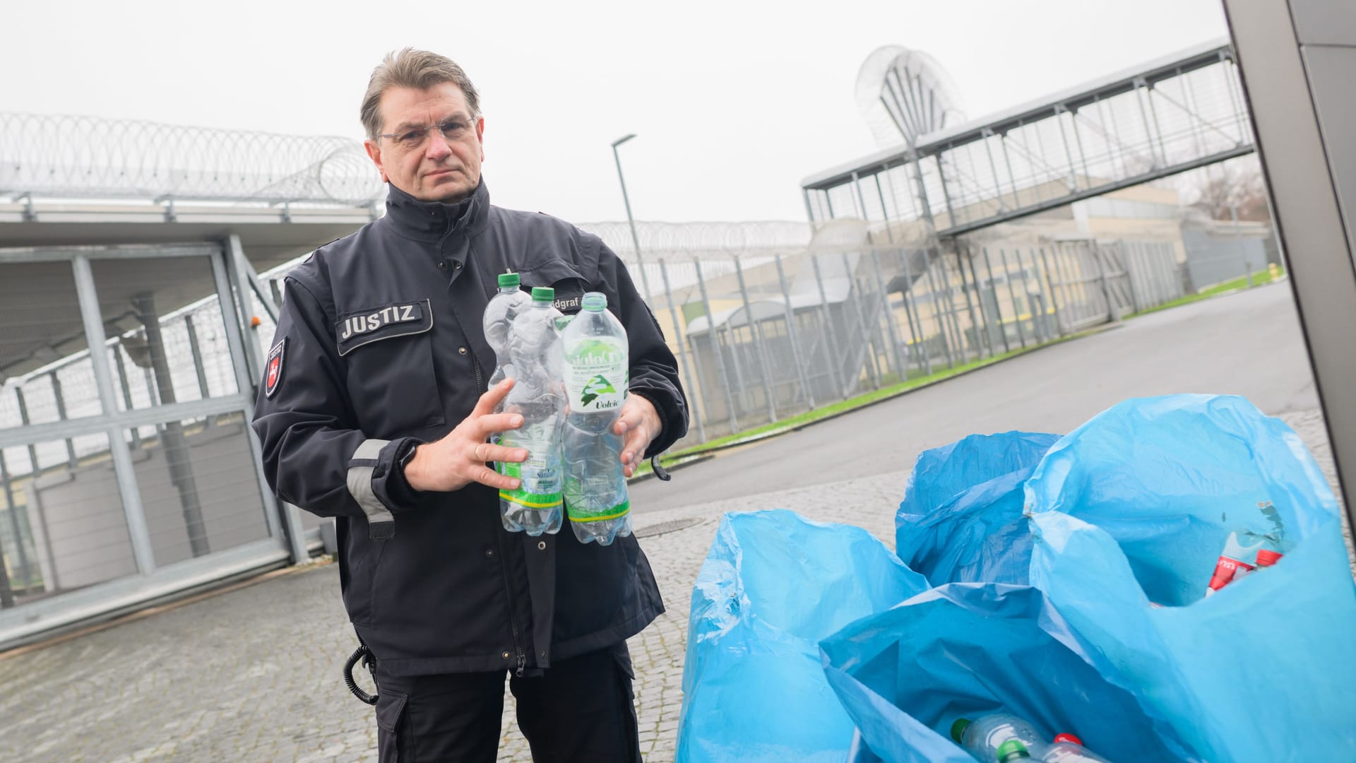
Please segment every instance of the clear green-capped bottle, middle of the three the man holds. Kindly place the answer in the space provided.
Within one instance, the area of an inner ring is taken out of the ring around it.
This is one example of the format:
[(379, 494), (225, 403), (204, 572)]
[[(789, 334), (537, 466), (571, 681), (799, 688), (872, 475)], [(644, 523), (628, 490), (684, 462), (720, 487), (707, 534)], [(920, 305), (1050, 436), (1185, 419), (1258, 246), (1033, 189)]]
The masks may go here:
[(517, 490), (499, 491), (499, 516), (504, 529), (527, 535), (555, 534), (561, 521), (565, 396), (556, 329), (561, 315), (555, 299), (555, 289), (532, 289), (530, 305), (518, 311), (509, 330), (509, 364), (517, 382), (504, 399), (504, 411), (522, 414), (522, 426), (503, 432), (500, 444), (526, 448), (527, 460), (498, 464), (500, 474), (522, 479)]

